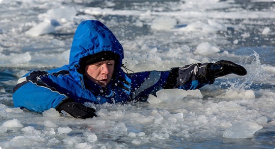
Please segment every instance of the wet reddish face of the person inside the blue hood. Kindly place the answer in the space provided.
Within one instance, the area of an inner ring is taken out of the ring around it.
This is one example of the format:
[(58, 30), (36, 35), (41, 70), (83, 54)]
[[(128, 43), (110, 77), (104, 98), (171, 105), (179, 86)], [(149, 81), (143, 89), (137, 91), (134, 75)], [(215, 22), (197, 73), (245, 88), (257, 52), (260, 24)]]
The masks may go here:
[(85, 74), (90, 80), (105, 88), (111, 81), (114, 64), (114, 60), (106, 60), (87, 65), (85, 67)]

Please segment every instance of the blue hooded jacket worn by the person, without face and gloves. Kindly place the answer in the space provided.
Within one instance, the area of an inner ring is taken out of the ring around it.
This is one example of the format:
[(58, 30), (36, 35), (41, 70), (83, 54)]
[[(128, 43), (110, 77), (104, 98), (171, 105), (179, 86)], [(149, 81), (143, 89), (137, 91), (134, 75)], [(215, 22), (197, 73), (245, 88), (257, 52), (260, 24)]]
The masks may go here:
[[(106, 88), (89, 80), (79, 71), (81, 58), (101, 51), (111, 51), (119, 55), (112, 79)], [(198, 64), (181, 69), (181, 73), (186, 72), (185, 83), (176, 85), (178, 77), (171, 75), (172, 71), (124, 73), (121, 69), (123, 58), (121, 44), (105, 25), (95, 20), (84, 21), (75, 31), (69, 64), (47, 72), (32, 71), (21, 77), (14, 88), (14, 107), (43, 112), (55, 108), (68, 98), (95, 104), (128, 102), (146, 99), (149, 94), (163, 88), (187, 90), (205, 85), (194, 79), (194, 75), (190, 73), (193, 66), (199, 66)]]

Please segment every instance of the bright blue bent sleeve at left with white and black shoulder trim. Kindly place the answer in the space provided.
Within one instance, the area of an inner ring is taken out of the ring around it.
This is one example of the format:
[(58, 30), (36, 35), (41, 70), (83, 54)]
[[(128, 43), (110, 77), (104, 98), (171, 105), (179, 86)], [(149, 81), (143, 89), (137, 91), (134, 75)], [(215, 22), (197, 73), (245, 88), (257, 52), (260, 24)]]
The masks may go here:
[(21, 77), (13, 89), (14, 107), (27, 108), (31, 111), (42, 113), (50, 108), (55, 108), (67, 96), (48, 86), (40, 76), (46, 72), (32, 72)]

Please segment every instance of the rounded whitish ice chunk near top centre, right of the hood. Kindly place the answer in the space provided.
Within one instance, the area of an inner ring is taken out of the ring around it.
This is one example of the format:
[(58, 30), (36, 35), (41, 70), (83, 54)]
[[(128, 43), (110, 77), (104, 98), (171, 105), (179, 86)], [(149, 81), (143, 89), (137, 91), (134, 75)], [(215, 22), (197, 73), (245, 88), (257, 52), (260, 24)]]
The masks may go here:
[(171, 17), (159, 17), (153, 21), (151, 25), (151, 29), (170, 30), (171, 28), (174, 27), (174, 25), (176, 25), (176, 19)]

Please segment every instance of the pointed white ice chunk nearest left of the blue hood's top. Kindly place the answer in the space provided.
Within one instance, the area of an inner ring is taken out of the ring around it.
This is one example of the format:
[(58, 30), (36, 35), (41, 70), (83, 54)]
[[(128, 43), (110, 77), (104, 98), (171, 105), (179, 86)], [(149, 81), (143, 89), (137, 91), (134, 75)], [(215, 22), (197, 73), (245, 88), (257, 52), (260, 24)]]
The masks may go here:
[(37, 37), (40, 35), (54, 33), (55, 27), (51, 24), (51, 22), (42, 22), (31, 29), (27, 30), (25, 33), (29, 36)]

